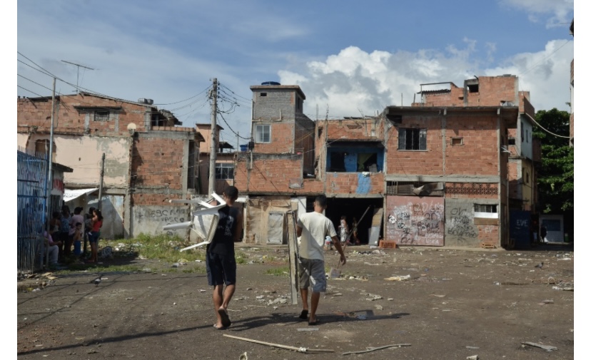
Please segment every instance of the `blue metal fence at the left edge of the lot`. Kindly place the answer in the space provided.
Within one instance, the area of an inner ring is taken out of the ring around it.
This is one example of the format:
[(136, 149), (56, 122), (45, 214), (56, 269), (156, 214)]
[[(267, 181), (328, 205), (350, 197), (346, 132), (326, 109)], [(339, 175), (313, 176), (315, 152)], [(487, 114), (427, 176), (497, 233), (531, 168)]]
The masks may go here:
[(17, 272), (22, 274), (43, 267), (49, 157), (19, 149), (16, 159), (16, 262)]

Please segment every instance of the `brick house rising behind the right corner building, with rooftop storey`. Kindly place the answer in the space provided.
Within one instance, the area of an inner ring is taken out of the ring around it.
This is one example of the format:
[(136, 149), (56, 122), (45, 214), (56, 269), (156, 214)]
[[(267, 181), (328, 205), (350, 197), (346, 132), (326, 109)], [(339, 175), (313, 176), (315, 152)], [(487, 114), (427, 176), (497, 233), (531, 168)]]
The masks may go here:
[(519, 90), (517, 76), (503, 75), (467, 79), (462, 88), (451, 82), (421, 84), (419, 93), (420, 103), (413, 106), (519, 107), (517, 125), (508, 128), (505, 143), (505, 149), (510, 152), (507, 170), (510, 242), (529, 245), (529, 223), (537, 217), (536, 168), (541, 161), (540, 140), (532, 137), (535, 109), (530, 103), (530, 92)]

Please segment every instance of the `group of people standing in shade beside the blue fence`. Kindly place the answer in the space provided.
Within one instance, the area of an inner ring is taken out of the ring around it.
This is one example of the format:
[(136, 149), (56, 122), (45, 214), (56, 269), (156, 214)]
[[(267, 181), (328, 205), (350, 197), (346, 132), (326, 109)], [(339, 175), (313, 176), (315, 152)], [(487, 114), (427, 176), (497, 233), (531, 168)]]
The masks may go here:
[[(86, 262), (96, 262), (98, 257), (98, 237), (103, 226), (101, 210), (89, 208), (87, 214), (82, 214), (83, 207), (76, 207), (70, 212), (68, 205), (61, 207), (61, 212), (53, 212), (49, 221), (49, 230), (44, 232), (46, 245), (49, 247), (49, 265), (56, 266), (71, 257), (74, 246), (74, 256), (83, 254), (82, 243), (88, 239), (91, 245), (91, 256)], [(84, 249), (86, 250), (86, 249)]]

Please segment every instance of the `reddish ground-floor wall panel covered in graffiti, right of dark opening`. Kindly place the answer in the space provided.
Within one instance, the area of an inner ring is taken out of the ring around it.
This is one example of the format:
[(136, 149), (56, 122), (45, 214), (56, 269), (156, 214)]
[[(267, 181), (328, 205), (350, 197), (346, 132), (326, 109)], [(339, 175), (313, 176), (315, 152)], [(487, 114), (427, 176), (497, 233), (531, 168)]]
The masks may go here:
[(400, 245), (443, 246), (443, 198), (388, 196), (387, 240)]

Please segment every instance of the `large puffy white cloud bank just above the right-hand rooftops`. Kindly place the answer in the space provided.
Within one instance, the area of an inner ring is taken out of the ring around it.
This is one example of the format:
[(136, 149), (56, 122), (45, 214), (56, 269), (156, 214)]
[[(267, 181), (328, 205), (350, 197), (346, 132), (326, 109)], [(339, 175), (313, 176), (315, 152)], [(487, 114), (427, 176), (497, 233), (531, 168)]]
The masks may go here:
[[(283, 84), (302, 87), (309, 116), (317, 105), (320, 113), (328, 106), (329, 118), (358, 116), (360, 112), (370, 115), (401, 102), (410, 106), (421, 83), (452, 81), (463, 86), (463, 81), (474, 75), (505, 73), (519, 76), (520, 90), (530, 91), (537, 110), (569, 110), (565, 103), (570, 98), (572, 41), (549, 41), (543, 51), (517, 54), (496, 68), (479, 68), (473, 58), (475, 41), (465, 39), (465, 44), (465, 48), (450, 46), (447, 53), (426, 49), (368, 53), (350, 46), (325, 61), (310, 61), (300, 71), (279, 71), (278, 76)], [(495, 51), (494, 44), (485, 47), (489, 56)]]

